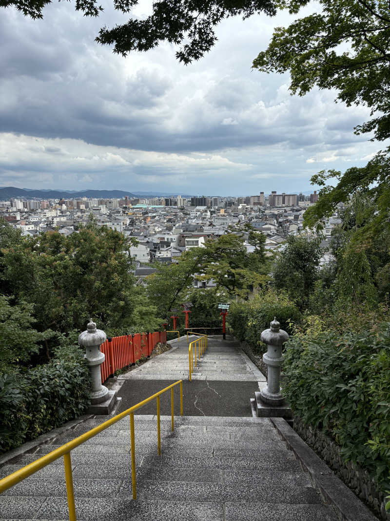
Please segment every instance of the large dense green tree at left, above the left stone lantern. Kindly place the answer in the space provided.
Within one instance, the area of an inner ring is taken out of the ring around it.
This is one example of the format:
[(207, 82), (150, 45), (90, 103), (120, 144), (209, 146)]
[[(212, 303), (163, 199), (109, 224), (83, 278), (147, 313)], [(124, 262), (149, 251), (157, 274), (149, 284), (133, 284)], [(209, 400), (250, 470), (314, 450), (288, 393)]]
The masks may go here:
[(131, 242), (91, 224), (68, 237), (46, 232), (2, 250), (2, 278), (17, 300), (34, 304), (39, 331), (131, 325), (136, 305)]

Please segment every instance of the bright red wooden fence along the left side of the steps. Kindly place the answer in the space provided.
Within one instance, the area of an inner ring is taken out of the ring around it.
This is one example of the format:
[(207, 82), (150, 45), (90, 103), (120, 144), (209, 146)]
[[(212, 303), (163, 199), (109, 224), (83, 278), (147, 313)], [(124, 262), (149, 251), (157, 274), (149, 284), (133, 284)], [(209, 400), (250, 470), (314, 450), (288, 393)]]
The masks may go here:
[(101, 381), (106, 381), (116, 370), (150, 356), (158, 342), (166, 342), (166, 331), (124, 334), (122, 337), (112, 337), (111, 342), (103, 342), (100, 351), (106, 355), (106, 359), (100, 366)]

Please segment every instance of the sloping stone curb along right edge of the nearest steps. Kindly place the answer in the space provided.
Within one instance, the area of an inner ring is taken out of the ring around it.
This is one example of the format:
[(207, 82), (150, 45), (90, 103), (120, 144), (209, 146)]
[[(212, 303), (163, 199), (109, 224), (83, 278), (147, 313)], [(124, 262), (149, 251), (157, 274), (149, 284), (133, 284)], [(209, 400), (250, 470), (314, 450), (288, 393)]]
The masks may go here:
[(297, 435), (283, 418), (270, 418), (272, 424), (309, 473), (325, 501), (333, 506), (341, 521), (378, 521), (371, 511), (317, 454)]

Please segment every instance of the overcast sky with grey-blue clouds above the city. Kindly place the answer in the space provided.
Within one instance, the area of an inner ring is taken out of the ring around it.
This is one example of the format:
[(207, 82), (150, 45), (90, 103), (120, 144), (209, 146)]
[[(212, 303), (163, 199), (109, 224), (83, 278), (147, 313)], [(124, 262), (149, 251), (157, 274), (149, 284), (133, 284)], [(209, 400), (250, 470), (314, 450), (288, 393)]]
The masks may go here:
[(126, 20), (102, 5), (88, 19), (53, 3), (35, 21), (0, 8), (1, 186), (299, 192), (319, 170), (361, 166), (378, 150), (353, 134), (366, 108), (329, 91), (290, 96), (287, 75), (251, 70), (287, 15), (225, 20), (212, 52), (186, 67), (169, 44), (127, 58), (96, 44), (101, 26)]

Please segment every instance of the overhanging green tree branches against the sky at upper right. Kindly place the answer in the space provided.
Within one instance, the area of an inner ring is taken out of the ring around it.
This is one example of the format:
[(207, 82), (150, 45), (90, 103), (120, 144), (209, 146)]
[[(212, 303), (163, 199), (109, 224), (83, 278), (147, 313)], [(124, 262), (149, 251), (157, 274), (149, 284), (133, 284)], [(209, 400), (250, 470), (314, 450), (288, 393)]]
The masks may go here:
[[(298, 13), (307, 0), (282, 0), (282, 7)], [(290, 72), (290, 90), (305, 95), (314, 86), (335, 89), (337, 99), (371, 109), (369, 121), (356, 127), (357, 134), (374, 132), (374, 139), (390, 137), (390, 6), (379, 0), (320, 0), (322, 11), (276, 28), (266, 51), (259, 53), (253, 67), (265, 72)], [(348, 50), (346, 50), (346, 46)], [(350, 194), (366, 191), (378, 214), (356, 234), (366, 240), (373, 231), (389, 226), (390, 148), (378, 153), (362, 168), (344, 174), (321, 171), (311, 178), (323, 188), (319, 201), (305, 212), (310, 228), (329, 217), (339, 202)], [(335, 178), (335, 186), (327, 185)]]

